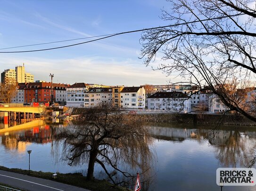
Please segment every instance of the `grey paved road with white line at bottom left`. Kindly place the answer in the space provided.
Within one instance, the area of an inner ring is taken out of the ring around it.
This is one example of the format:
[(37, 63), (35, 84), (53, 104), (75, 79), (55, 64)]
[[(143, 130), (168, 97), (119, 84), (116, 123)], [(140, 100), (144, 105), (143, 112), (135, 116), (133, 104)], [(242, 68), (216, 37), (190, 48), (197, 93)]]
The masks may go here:
[(5, 183), (28, 191), (89, 191), (64, 183), (3, 170), (0, 170), (0, 183)]

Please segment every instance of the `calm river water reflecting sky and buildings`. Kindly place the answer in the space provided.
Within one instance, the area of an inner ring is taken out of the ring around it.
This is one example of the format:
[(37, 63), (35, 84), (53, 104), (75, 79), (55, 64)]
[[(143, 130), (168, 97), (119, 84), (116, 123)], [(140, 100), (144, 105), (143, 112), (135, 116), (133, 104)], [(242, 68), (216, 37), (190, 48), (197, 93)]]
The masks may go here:
[[(1, 125), (0, 165), (27, 169), (26, 151), (32, 150), (32, 170), (85, 174), (86, 165), (70, 167), (65, 161), (58, 160), (58, 151), (54, 147), (56, 129), (68, 125), (67, 122), (33, 121), (17, 125), (18, 130)], [(220, 190), (215, 183), (216, 169), (245, 167), (256, 148), (254, 128), (222, 126), (212, 137), (209, 135), (215, 132), (215, 126), (161, 123), (146, 126), (153, 137), (151, 147), (156, 161), (151, 170), (150, 185), (144, 190)], [(97, 165), (95, 176), (106, 178)], [(224, 186), (223, 191), (256, 191), (256, 187)]]

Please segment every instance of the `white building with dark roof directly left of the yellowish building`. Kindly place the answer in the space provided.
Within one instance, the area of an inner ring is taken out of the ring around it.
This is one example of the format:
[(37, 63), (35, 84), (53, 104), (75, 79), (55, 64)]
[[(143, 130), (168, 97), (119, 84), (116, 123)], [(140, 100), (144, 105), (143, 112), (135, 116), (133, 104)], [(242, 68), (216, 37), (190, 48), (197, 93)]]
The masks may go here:
[(112, 101), (112, 88), (91, 88), (84, 93), (84, 107), (93, 107), (99, 103)]

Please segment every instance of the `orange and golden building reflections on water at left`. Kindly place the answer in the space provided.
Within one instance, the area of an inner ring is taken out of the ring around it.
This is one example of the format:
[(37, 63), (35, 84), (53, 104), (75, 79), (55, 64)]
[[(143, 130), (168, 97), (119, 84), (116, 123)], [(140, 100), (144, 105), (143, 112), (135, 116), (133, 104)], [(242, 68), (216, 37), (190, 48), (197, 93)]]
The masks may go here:
[(50, 128), (50, 125), (36, 126), (29, 130), (12, 131), (7, 135), (1, 136), (1, 143), (6, 148), (18, 152), (25, 152), (26, 146), (31, 142), (50, 143), (56, 136), (56, 130)]

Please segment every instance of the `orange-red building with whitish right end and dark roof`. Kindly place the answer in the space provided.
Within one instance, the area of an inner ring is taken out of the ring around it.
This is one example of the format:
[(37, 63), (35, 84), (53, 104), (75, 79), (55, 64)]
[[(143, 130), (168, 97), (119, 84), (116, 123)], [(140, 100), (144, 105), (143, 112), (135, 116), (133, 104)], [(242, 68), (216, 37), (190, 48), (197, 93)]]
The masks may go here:
[[(52, 84), (53, 86), (53, 95), (56, 98), (58, 94), (58, 98), (64, 97), (66, 88), (69, 86), (68, 84)], [(27, 83), (26, 87), (24, 88), (24, 95), (25, 103), (31, 103), (31, 102), (39, 102), (39, 103), (47, 103), (50, 102), (51, 99), (51, 83), (50, 82), (31, 82)], [(58, 90), (58, 93), (56, 93)], [(61, 91), (61, 92), (59, 92)], [(61, 95), (61, 96), (60, 96)], [(63, 100), (60, 100), (63, 101)]]

